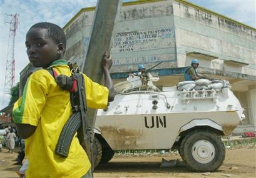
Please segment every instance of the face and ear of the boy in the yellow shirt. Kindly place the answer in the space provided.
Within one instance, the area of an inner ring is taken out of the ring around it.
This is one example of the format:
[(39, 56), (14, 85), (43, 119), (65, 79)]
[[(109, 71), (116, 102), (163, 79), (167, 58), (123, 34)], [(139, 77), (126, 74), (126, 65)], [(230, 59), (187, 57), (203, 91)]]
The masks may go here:
[(56, 44), (47, 29), (30, 29), (26, 34), (25, 44), (29, 61), (34, 67), (46, 67), (64, 52), (63, 45)]

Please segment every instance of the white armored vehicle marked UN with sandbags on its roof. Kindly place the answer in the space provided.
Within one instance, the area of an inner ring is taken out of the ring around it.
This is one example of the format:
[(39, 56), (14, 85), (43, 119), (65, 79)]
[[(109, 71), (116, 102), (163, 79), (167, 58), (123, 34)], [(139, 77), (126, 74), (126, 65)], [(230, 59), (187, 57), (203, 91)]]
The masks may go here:
[(118, 150), (178, 149), (193, 171), (215, 171), (225, 159), (220, 137), (229, 136), (244, 117), (227, 85), (160, 91), (152, 79), (145, 83), (130, 76), (115, 89), (115, 101), (98, 110), (95, 166), (110, 161)]

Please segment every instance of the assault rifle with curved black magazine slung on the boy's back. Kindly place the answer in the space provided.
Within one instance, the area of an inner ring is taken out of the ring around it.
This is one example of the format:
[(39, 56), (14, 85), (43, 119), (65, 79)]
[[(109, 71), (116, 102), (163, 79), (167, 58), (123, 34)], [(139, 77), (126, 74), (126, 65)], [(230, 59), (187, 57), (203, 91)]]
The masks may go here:
[(74, 134), (78, 132), (79, 143), (86, 152), (93, 169), (93, 129), (89, 127), (86, 118), (86, 88), (83, 74), (79, 73), (76, 64), (68, 63), (71, 77), (59, 75), (56, 82), (61, 89), (70, 92), (70, 101), (73, 114), (64, 125), (56, 145), (55, 153), (61, 157), (68, 157), (69, 148)]

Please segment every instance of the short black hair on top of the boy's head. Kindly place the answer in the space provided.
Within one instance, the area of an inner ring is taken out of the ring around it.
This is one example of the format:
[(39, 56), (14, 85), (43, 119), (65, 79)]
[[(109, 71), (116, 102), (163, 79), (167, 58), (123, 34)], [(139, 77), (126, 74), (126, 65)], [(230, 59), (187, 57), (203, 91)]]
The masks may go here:
[(47, 29), (49, 32), (49, 36), (53, 39), (53, 41), (56, 42), (56, 44), (59, 44), (60, 42), (63, 43), (64, 48), (66, 49), (66, 36), (63, 29), (58, 25), (49, 22), (39, 22), (30, 27), (30, 29), (32, 28)]

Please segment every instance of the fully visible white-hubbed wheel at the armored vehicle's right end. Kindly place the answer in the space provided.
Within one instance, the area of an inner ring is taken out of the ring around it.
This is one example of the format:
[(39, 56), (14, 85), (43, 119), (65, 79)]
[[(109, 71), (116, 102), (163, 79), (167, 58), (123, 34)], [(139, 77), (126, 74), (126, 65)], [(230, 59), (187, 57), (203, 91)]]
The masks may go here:
[(192, 171), (215, 171), (225, 159), (225, 146), (214, 132), (190, 132), (182, 141), (180, 154)]

